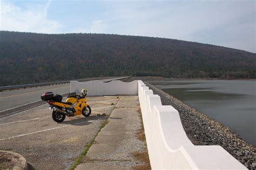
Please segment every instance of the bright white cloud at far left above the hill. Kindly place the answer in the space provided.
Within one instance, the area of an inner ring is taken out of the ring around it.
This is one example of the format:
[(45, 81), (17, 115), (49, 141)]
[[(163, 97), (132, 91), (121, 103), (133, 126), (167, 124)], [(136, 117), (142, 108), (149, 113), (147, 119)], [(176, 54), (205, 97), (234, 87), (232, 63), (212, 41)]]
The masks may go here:
[(47, 18), (50, 1), (45, 6), (38, 5), (34, 8), (22, 9), (10, 2), (1, 3), (1, 30), (59, 33), (63, 27), (57, 21)]

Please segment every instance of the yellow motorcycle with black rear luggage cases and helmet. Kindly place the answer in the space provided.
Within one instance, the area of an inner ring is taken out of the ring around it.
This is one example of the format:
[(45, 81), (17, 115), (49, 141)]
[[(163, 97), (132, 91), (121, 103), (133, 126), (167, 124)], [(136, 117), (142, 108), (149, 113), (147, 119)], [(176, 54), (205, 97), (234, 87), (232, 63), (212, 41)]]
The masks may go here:
[(62, 101), (62, 96), (53, 94), (52, 92), (43, 93), (41, 99), (47, 101), (50, 105), (49, 109), (52, 111), (52, 119), (57, 123), (65, 120), (66, 116), (74, 117), (83, 114), (89, 117), (91, 114), (91, 107), (86, 103), (85, 96), (77, 95), (75, 92), (68, 94), (65, 102)]

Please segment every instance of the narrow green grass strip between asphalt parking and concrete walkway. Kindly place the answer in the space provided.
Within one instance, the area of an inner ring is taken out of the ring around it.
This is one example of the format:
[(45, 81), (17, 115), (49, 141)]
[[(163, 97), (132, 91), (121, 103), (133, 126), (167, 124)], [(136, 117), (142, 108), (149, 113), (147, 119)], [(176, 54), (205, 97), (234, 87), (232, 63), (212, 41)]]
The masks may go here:
[[(107, 118), (108, 119), (108, 118)], [(76, 159), (75, 163), (69, 167), (69, 170), (73, 170), (76, 168), (77, 165), (79, 165), (84, 158), (84, 156), (89, 151), (90, 147), (92, 146), (93, 142), (95, 141), (95, 138), (99, 134), (99, 132), (102, 130), (102, 128), (107, 124), (108, 120), (104, 120), (103, 123), (99, 126), (99, 130), (95, 134), (95, 136), (90, 140), (89, 144), (86, 145), (85, 149), (82, 151), (82, 153), (79, 155), (79, 157)]]

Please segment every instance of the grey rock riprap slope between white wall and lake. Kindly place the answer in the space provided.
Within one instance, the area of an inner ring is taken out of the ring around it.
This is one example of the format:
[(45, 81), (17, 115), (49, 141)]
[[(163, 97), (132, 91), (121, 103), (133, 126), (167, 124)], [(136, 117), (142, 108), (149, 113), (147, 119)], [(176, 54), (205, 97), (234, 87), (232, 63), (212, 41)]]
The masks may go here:
[(232, 132), (230, 128), (207, 117), (204, 113), (149, 83), (146, 83), (146, 85), (153, 90), (154, 94), (160, 96), (163, 105), (172, 105), (178, 110), (184, 130), (194, 145), (220, 145), (248, 169), (256, 168), (255, 146), (248, 144), (239, 135)]

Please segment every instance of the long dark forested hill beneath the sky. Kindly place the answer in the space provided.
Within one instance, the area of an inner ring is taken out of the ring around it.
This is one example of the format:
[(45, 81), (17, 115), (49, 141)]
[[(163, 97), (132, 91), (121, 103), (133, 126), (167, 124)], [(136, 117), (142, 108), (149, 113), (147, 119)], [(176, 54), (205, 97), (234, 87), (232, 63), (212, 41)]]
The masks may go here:
[(97, 76), (256, 78), (256, 54), (183, 40), (0, 32), (0, 86)]

